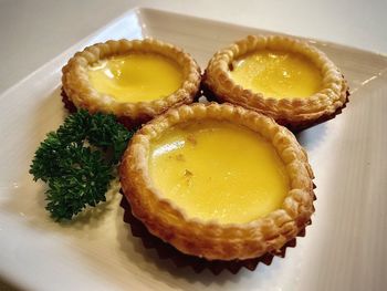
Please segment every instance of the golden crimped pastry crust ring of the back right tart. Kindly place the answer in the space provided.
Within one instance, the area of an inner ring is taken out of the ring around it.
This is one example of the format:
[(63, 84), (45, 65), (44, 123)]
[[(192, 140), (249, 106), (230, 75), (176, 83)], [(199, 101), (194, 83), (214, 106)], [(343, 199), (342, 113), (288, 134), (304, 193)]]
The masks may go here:
[[(272, 98), (243, 89), (229, 75), (229, 65), (243, 54), (263, 49), (301, 53), (322, 72), (322, 90), (306, 98)], [(226, 49), (219, 50), (209, 61), (203, 84), (220, 102), (230, 102), (285, 121), (300, 124), (332, 115), (347, 102), (347, 82), (336, 65), (308, 43), (282, 35), (248, 35)]]

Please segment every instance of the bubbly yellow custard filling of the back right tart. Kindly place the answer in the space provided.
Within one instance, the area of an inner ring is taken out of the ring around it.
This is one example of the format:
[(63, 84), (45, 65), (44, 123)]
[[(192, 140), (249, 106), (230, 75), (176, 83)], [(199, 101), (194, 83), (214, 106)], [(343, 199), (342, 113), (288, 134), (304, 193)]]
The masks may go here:
[(321, 90), (320, 70), (302, 54), (260, 51), (233, 63), (231, 77), (244, 89), (274, 98), (308, 97)]

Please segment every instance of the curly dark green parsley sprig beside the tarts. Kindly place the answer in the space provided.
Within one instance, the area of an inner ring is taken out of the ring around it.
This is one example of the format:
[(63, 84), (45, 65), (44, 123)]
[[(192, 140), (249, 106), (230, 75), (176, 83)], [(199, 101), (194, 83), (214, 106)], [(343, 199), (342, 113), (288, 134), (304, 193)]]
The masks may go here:
[(114, 115), (81, 110), (48, 134), (30, 174), (49, 185), (45, 208), (56, 221), (72, 219), (85, 207), (106, 200), (114, 168), (134, 132)]

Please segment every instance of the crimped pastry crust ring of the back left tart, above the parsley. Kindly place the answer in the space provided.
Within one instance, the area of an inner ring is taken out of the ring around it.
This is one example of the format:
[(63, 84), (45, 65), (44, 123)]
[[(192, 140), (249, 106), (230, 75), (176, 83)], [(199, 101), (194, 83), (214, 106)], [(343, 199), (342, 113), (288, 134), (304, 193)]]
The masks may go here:
[[(184, 83), (169, 96), (149, 102), (118, 102), (114, 97), (98, 93), (88, 82), (88, 65), (98, 60), (127, 53), (157, 53), (181, 66)], [(130, 121), (147, 122), (167, 108), (194, 102), (200, 86), (200, 67), (196, 61), (181, 49), (155, 39), (109, 40), (96, 43), (75, 53), (62, 69), (63, 90), (76, 107), (91, 113), (113, 113)]]

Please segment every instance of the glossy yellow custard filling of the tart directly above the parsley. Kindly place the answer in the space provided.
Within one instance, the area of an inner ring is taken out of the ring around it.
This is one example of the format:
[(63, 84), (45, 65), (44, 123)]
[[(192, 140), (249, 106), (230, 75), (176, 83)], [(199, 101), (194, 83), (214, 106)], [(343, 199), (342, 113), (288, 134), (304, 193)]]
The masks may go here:
[(96, 91), (119, 102), (146, 102), (177, 91), (182, 84), (182, 72), (163, 55), (132, 53), (93, 64), (88, 80)]

